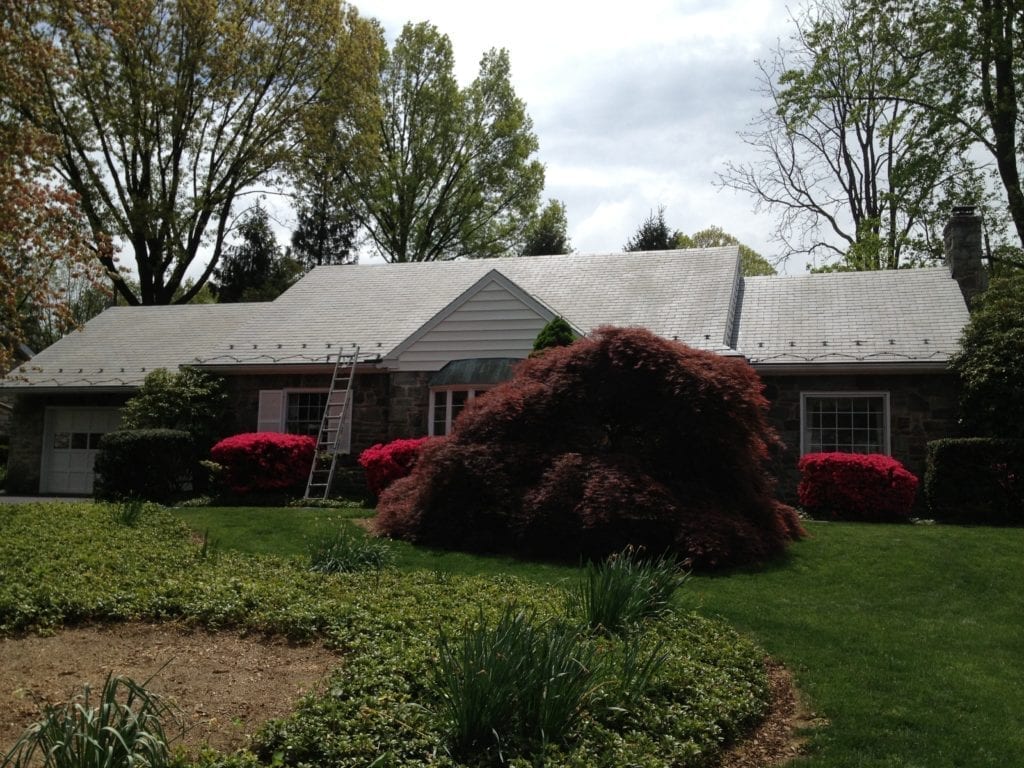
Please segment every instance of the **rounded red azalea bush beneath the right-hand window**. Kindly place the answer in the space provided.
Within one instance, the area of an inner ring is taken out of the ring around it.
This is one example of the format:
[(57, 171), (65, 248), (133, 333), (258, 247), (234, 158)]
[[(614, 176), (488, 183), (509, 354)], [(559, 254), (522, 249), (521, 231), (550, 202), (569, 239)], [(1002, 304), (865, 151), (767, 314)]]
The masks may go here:
[(906, 520), (918, 478), (882, 454), (807, 454), (800, 460), (800, 503), (829, 520)]

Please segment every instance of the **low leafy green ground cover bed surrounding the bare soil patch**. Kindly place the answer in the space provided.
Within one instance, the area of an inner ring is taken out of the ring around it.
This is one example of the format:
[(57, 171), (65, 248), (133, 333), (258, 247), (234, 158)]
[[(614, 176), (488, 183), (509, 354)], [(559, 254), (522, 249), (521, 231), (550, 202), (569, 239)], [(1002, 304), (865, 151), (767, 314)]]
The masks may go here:
[[(319, 682), (314, 674), (269, 689), (290, 711), (262, 727), (226, 710), (215, 716), (228, 721), (228, 730), (253, 736), (247, 750), (187, 758), (206, 765), (493, 763), (496, 750), (456, 759), (447, 748), (431, 682), (438, 633), (457, 637), (467, 625), (495, 623), (510, 604), (539, 622), (565, 610), (564, 585), (426, 569), (314, 573), (299, 556), (213, 546), (213, 535), (196, 536), (166, 510), (136, 512), (105, 505), (0, 509), (0, 635), (15, 643), (37, 642), (40, 634), (67, 640), (73, 636), (61, 628), (94, 626), (130, 639), (144, 622), (164, 626), (165, 641), (190, 629), (185, 637), (200, 643), (190, 651), (197, 656), (204, 643), (225, 638), (323, 643), (307, 647), (322, 654), (311, 663), (323, 672)], [(140, 648), (159, 642), (135, 638)], [(623, 642), (605, 637), (595, 647), (625, 655)], [(675, 610), (632, 642), (664, 654), (653, 683), (628, 708), (588, 710), (564, 744), (547, 745), (546, 765), (712, 765), (764, 715), (770, 691), (763, 652), (722, 623)], [(250, 653), (232, 647), (234, 655)], [(141, 677), (163, 664), (153, 655), (136, 659)], [(152, 672), (159, 678), (159, 669)], [(252, 677), (267, 672), (259, 668)], [(16, 683), (22, 690), (30, 685)], [(307, 685), (312, 692), (292, 706), (296, 688)], [(512, 764), (514, 746), (501, 755)]]

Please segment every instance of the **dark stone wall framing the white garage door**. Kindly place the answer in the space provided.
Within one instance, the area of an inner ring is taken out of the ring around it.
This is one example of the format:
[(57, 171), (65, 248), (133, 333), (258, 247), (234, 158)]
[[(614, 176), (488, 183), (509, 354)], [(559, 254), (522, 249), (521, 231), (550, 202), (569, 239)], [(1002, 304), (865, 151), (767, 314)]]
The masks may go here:
[(10, 425), (7, 457), (8, 494), (38, 494), (43, 461), (43, 423), (47, 407), (103, 406), (120, 408), (128, 394), (18, 395)]

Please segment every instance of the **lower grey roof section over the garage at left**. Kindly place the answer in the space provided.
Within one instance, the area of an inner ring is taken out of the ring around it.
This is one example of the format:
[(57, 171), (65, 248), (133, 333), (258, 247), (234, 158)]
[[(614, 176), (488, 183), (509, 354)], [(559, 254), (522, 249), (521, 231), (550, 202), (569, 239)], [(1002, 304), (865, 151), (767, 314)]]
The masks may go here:
[(120, 389), (216, 347), (259, 304), (112, 307), (18, 366), (0, 387)]

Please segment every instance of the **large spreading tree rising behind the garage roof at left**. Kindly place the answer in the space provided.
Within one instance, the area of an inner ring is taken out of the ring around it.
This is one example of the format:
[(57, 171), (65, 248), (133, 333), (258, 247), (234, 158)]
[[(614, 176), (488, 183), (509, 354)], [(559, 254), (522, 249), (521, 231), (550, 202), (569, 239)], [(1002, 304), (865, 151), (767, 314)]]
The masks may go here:
[[(354, 44), (332, 0), (4, 4), (26, 89), (0, 109), (55, 137), (50, 168), (97, 243), (133, 252), (130, 304), (187, 302), (216, 269), (237, 196), (274, 181), (304, 113)], [(40, 57), (40, 48), (57, 55)], [(186, 271), (209, 257), (190, 290)], [(177, 295), (177, 298), (175, 296)]]

